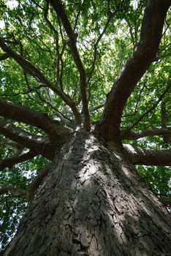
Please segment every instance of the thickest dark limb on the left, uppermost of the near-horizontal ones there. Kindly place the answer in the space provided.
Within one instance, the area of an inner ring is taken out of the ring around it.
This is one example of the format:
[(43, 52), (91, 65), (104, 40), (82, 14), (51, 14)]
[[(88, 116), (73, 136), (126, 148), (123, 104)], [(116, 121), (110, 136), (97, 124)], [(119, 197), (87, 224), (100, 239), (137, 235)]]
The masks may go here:
[(31, 110), (26, 106), (17, 105), (7, 100), (0, 100), (0, 116), (43, 129), (50, 138), (56, 136), (59, 139), (67, 133), (67, 129), (61, 127), (58, 121), (54, 121), (47, 114)]

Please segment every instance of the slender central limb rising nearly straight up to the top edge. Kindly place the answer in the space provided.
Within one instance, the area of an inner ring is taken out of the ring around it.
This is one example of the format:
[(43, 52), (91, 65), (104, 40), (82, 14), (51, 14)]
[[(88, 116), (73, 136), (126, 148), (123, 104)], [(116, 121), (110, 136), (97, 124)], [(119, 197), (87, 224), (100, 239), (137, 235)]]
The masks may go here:
[[(47, 0), (46, 0), (47, 1)], [(47, 1), (48, 2), (48, 1)], [(83, 102), (83, 113), (84, 113), (84, 126), (89, 129), (90, 128), (90, 116), (88, 112), (88, 99), (86, 96), (86, 72), (83, 67), (83, 62), (80, 59), (80, 55), (77, 50), (77, 34), (75, 34), (72, 26), (69, 22), (69, 19), (64, 11), (64, 7), (59, 0), (50, 0), (50, 4), (53, 9), (56, 11), (56, 14), (61, 19), (61, 22), (64, 26), (66, 34), (69, 37), (69, 48), (72, 51), (72, 56), (77, 66), (78, 72), (80, 74), (80, 92)]]

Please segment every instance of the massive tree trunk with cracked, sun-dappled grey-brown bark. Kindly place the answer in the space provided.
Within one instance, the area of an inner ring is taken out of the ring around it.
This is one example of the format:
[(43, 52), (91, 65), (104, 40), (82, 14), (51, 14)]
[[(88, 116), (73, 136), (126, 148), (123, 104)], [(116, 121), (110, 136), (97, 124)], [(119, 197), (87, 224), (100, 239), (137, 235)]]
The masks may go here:
[(170, 255), (170, 216), (126, 156), (77, 132), (20, 222), (5, 256)]

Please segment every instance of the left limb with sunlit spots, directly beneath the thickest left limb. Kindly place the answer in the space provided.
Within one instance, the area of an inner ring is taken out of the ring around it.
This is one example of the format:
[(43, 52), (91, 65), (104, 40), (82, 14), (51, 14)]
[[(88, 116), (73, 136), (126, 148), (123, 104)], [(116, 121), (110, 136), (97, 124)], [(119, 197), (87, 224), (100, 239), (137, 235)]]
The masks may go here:
[(24, 131), (14, 124), (6, 123), (0, 120), (0, 133), (5, 135), (10, 140), (17, 142), (18, 144), (30, 148), (31, 151), (42, 154), (47, 159), (53, 159), (54, 149), (48, 138), (42, 138), (42, 136), (33, 135)]

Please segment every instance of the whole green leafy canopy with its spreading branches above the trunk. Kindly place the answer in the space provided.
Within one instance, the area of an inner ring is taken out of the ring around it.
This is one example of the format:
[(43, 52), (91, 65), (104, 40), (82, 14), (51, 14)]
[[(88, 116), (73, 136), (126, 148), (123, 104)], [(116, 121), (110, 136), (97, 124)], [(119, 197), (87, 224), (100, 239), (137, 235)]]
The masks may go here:
[(153, 2), (0, 0), (2, 249), (53, 159), (49, 138), (80, 125), (130, 157), (137, 147), (138, 173), (170, 206), (171, 16)]

